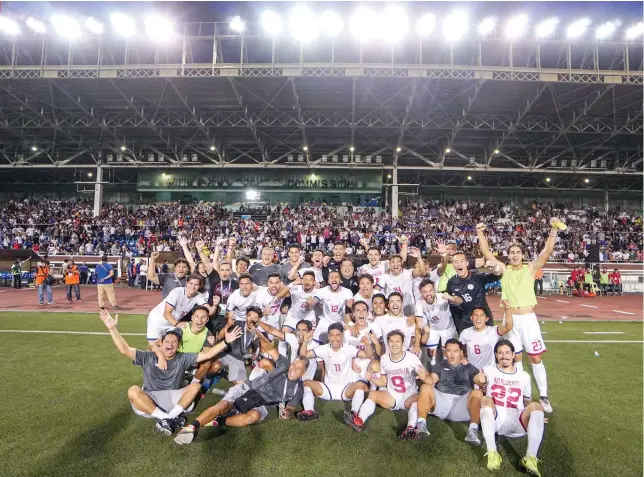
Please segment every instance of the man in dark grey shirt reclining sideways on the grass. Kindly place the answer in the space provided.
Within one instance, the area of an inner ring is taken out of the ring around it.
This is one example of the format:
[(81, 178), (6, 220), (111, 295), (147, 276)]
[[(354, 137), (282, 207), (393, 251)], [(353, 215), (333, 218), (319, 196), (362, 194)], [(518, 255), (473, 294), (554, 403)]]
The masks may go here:
[(302, 376), (309, 367), (309, 360), (298, 356), (289, 363), (280, 355), (262, 333), (257, 333), (263, 353), (275, 362), (275, 369), (256, 379), (233, 386), (215, 406), (202, 412), (190, 425), (181, 429), (174, 441), (190, 444), (200, 427), (246, 427), (263, 421), (268, 416), (268, 406), (280, 405), (280, 418), (287, 419), (302, 400)]

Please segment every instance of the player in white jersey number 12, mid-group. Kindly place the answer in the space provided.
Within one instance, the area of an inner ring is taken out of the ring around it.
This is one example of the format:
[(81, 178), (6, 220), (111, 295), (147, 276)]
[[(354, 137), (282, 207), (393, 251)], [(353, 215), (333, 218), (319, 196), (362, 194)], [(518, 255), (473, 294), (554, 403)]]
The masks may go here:
[(329, 271), (329, 284), (324, 288), (315, 291), (315, 295), (307, 298), (311, 307), (318, 303), (322, 304), (322, 316), (318, 322), (313, 339), (318, 343), (328, 341), (327, 329), (333, 323), (349, 323), (351, 315), (347, 313), (353, 305), (353, 293), (348, 288), (340, 286), (340, 272), (338, 270)]

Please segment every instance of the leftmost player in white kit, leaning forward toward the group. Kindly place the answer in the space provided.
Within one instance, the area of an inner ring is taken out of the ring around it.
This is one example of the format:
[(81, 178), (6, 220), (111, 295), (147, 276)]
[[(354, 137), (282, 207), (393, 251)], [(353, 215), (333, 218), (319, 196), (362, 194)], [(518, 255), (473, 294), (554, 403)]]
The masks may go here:
[[(170, 326), (177, 326), (181, 318), (186, 316), (195, 306), (206, 305), (208, 296), (199, 293), (203, 284), (201, 275), (191, 275), (186, 281), (185, 287), (178, 287), (172, 290), (165, 299), (152, 308), (148, 314), (146, 336), (150, 344), (161, 339), (165, 329)], [(206, 305), (212, 314), (215, 307)]]

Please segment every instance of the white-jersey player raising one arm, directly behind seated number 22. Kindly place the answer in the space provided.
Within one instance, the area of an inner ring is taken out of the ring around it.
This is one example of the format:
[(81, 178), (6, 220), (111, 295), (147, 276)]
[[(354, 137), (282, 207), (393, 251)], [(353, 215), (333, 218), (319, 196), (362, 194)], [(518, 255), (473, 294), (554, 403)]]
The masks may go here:
[(505, 308), (505, 319), (498, 326), (487, 326), (488, 316), (483, 308), (474, 308), (470, 319), (474, 326), (465, 328), (459, 340), (467, 348), (467, 359), (478, 369), (494, 364), (494, 346), (514, 326), (512, 310), (507, 300), (501, 300)]

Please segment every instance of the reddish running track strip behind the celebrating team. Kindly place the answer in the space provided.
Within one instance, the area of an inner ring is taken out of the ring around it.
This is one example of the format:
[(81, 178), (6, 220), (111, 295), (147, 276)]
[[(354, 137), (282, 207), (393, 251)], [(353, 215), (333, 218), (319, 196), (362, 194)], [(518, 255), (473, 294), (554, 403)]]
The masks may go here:
[[(54, 286), (54, 304), (38, 305), (38, 293), (34, 288), (14, 290), (0, 288), (0, 311), (53, 311), (53, 312), (85, 312), (98, 311), (98, 299), (94, 285), (81, 286), (82, 301), (67, 303), (65, 288), (61, 285)], [(144, 291), (139, 288), (128, 288), (125, 285), (116, 285), (116, 298), (122, 313), (148, 314), (148, 312), (161, 301), (161, 293)], [(536, 309), (540, 320), (567, 320), (579, 321), (642, 321), (643, 306), (642, 294), (628, 294), (624, 296), (605, 296), (596, 298), (576, 298), (559, 295), (544, 294), (537, 298), (539, 304)], [(499, 306), (499, 297), (488, 296), (492, 313), (497, 318), (502, 316)], [(107, 306), (109, 310), (109, 305)]]

